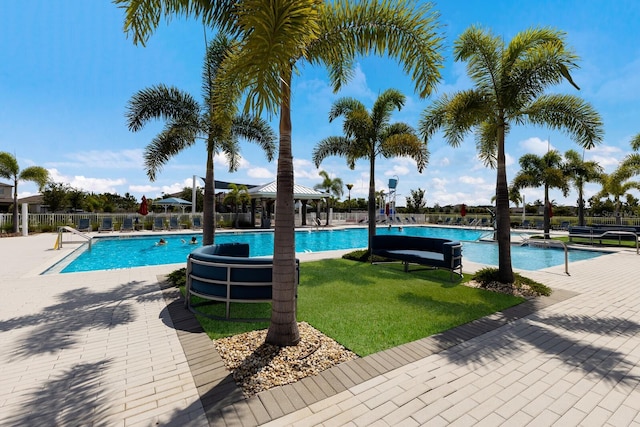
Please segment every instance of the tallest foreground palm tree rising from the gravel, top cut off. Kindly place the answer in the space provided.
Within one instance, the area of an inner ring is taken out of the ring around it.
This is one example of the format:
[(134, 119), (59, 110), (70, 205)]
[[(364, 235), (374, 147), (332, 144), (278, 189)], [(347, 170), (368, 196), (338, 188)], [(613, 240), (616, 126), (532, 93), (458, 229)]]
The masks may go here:
[(431, 4), (414, 0), (114, 0), (126, 9), (125, 31), (144, 43), (162, 16), (192, 16), (233, 29), (242, 48), (226, 62), (216, 105), (220, 123), (235, 114), (224, 99), (246, 90), (246, 108), (279, 112), (273, 303), (266, 342), (295, 345), (295, 215), (291, 83), (299, 62), (326, 65), (334, 90), (353, 75), (356, 55), (387, 54), (411, 74), (421, 97), (440, 79), (442, 39)]

